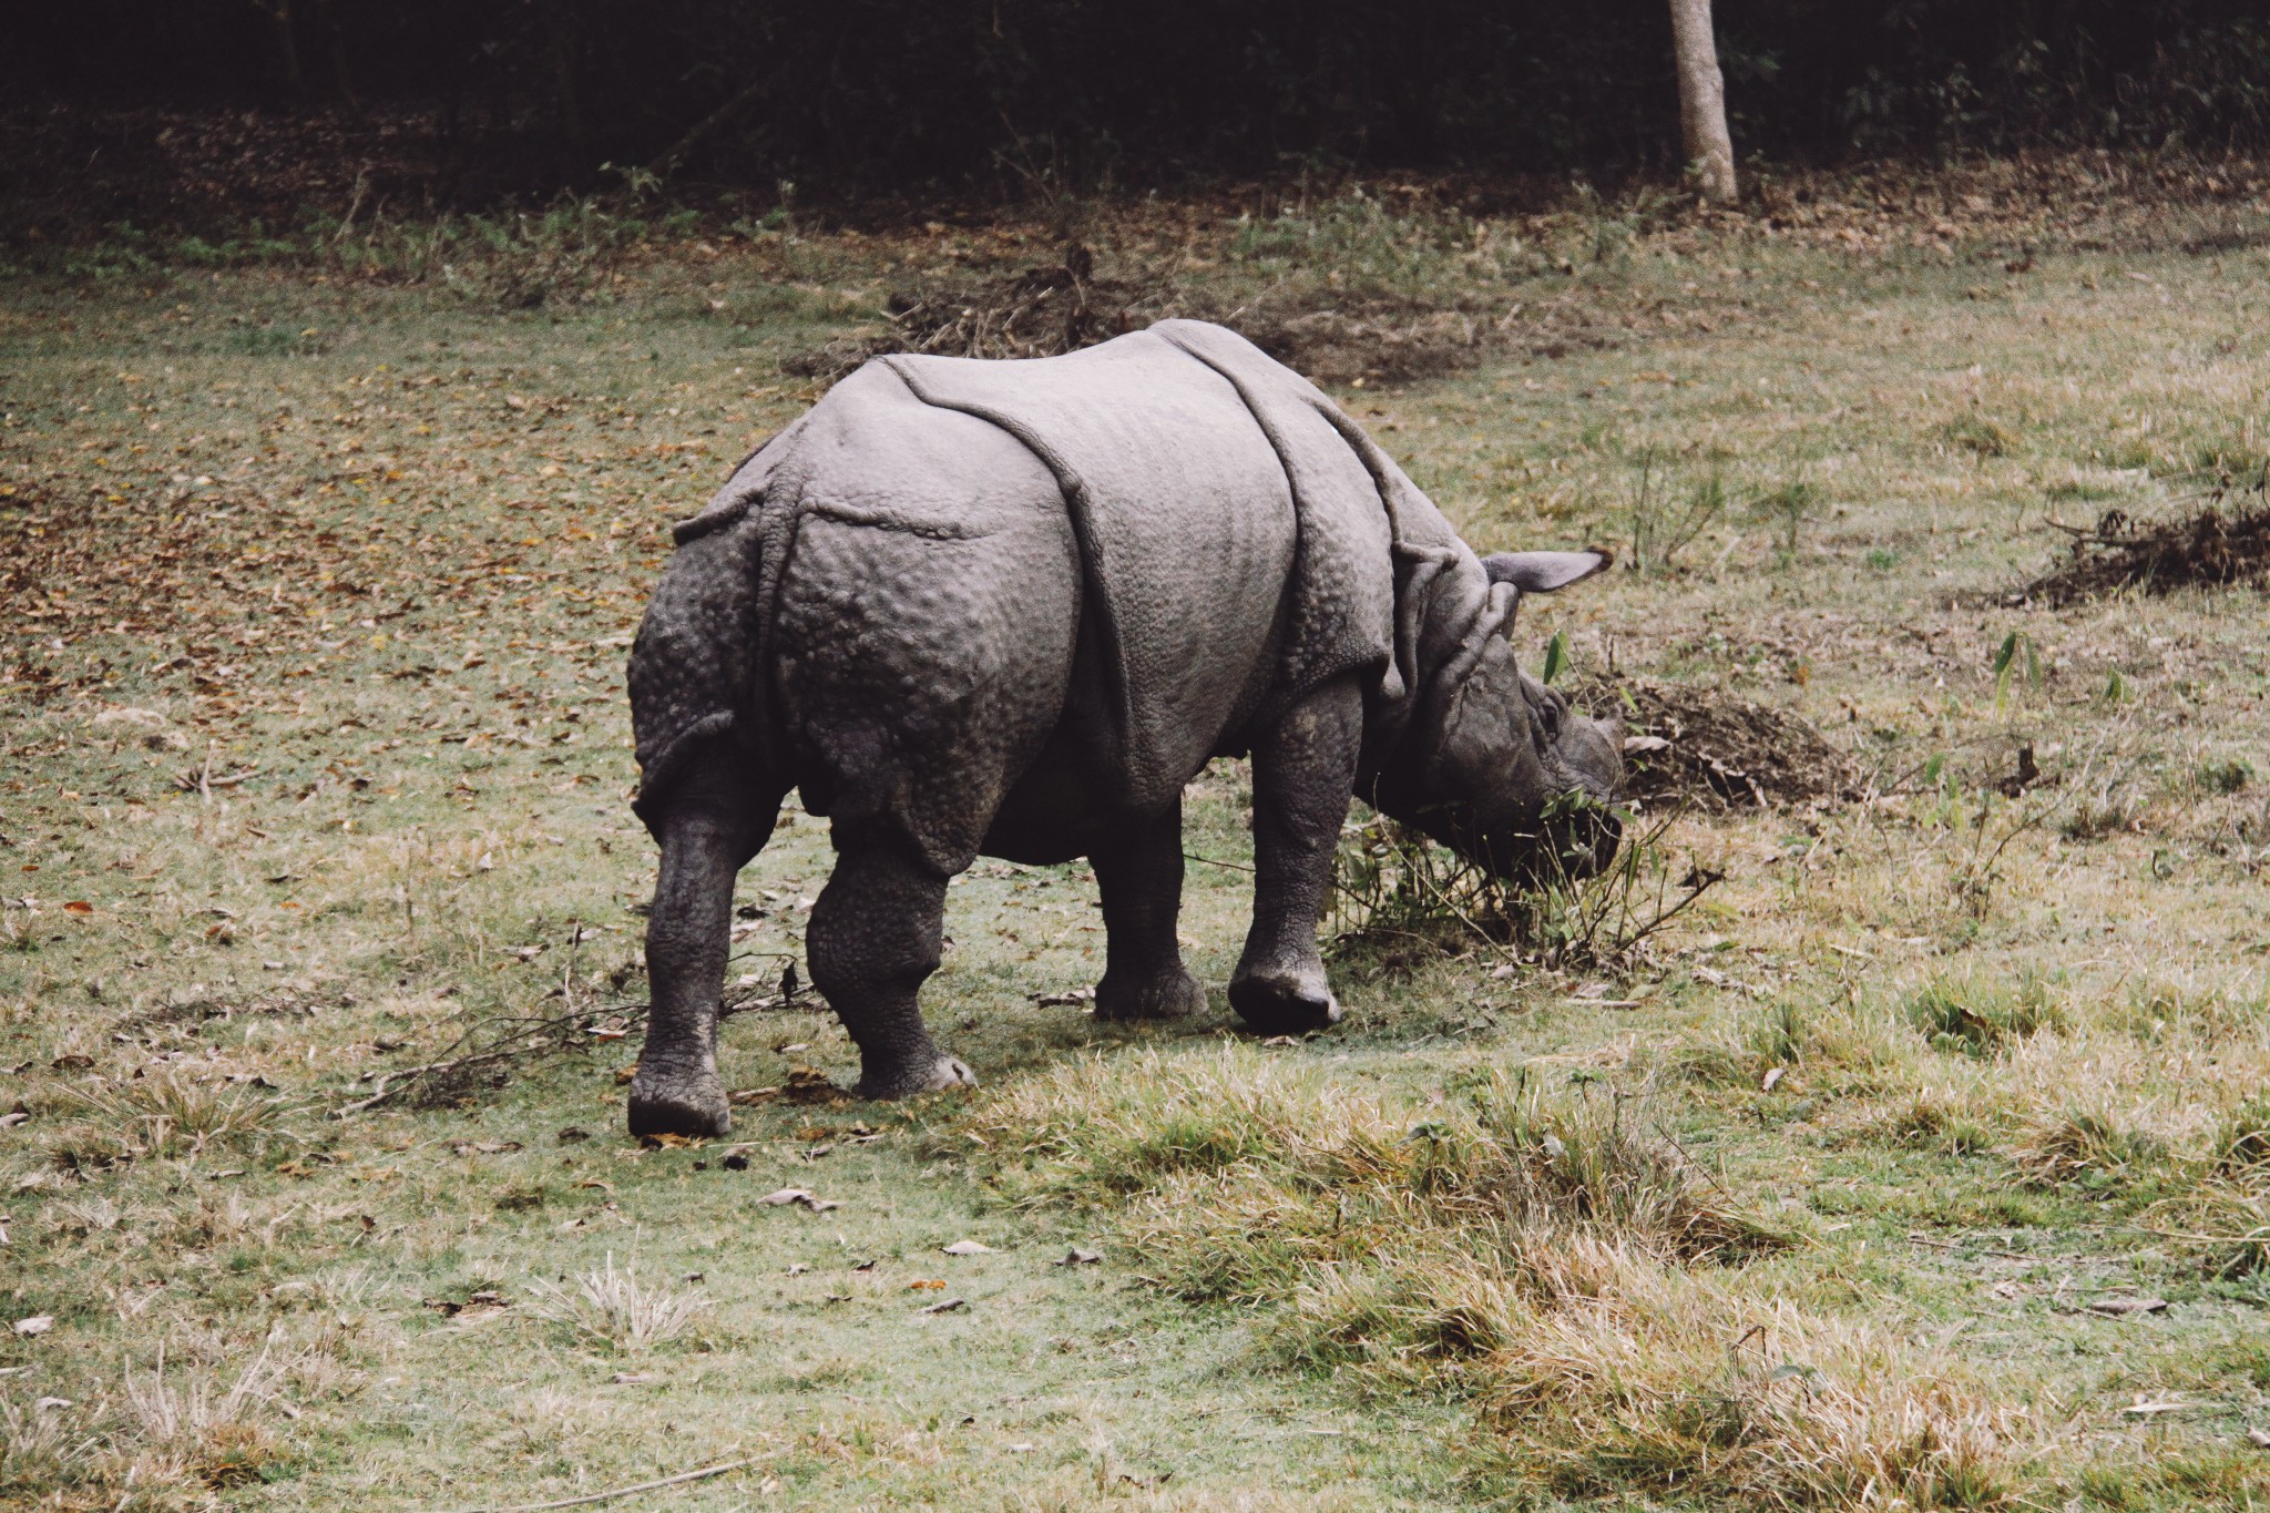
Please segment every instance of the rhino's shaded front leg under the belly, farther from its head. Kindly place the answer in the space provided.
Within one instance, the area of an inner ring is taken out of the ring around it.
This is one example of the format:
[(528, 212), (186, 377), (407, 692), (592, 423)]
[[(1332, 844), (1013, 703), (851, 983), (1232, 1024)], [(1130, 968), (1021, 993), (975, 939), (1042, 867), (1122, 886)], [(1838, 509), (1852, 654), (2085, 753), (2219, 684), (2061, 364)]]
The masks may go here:
[(1174, 1018), (1205, 1007), (1174, 937), (1183, 912), (1183, 798), (1115, 826), (1087, 857), (1103, 894), (1105, 957), (1096, 1018)]

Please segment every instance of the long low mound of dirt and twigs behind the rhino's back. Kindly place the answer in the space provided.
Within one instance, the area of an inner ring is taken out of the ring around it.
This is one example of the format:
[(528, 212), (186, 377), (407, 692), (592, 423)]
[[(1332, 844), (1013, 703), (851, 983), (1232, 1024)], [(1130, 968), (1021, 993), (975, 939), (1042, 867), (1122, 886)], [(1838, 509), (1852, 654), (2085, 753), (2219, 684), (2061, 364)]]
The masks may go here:
[(1167, 279), (1096, 277), (1094, 256), (1081, 245), (1071, 245), (1062, 263), (976, 284), (899, 290), (885, 311), (890, 331), (844, 336), (797, 352), (781, 367), (799, 379), (833, 383), (867, 358), (890, 352), (1056, 356), (1171, 315), (1221, 322), (1319, 383), (1401, 383), (1457, 372), (1505, 352), (1557, 358), (1612, 340), (1584, 313), (1535, 311), (1523, 318), (1521, 306), (1498, 313), (1314, 290), (1267, 293), (1228, 306), (1219, 295), (1178, 288)]

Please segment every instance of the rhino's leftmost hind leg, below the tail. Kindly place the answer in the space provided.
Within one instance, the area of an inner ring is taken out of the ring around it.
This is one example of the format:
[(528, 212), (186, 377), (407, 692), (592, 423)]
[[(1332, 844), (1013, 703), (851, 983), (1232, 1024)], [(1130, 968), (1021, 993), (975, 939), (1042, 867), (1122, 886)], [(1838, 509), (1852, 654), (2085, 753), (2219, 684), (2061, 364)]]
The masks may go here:
[(663, 871), (647, 914), (647, 1041), (631, 1075), (631, 1134), (724, 1134), (717, 998), (733, 935), (733, 878), (772, 835), (760, 803), (724, 764), (690, 774), (656, 819)]

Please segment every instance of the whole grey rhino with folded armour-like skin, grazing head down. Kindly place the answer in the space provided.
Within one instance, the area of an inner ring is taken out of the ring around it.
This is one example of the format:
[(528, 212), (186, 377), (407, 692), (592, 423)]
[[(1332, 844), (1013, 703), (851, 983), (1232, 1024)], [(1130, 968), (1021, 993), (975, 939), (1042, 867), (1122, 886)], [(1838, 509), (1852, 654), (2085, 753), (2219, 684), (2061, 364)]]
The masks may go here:
[(1183, 785), (1253, 753), (1253, 930), (1230, 1007), (1339, 1016), (1317, 916), (1351, 796), (1500, 871), (1605, 860), (1612, 728), (1523, 676), (1523, 592), (1600, 551), (1478, 558), (1330, 399), (1221, 327), (1040, 361), (885, 356), (676, 531), (631, 651), (638, 814), (663, 848), (638, 1134), (717, 1134), (733, 878), (790, 787), (833, 823), (808, 964), (858, 1091), (972, 1082), (922, 1025), (947, 880), (1094, 862), (1099, 1018), (1187, 1014)]

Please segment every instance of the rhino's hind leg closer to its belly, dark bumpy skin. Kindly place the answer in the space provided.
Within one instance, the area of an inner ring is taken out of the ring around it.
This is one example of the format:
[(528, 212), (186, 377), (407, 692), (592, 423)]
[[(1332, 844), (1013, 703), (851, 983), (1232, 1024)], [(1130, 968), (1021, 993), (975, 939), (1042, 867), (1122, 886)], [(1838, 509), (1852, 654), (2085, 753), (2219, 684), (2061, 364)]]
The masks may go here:
[(847, 844), (813, 903), (804, 955), (813, 987), (860, 1050), (860, 1098), (906, 1098), (974, 1084), (938, 1050), (915, 998), (944, 946), (947, 880), (890, 844)]

